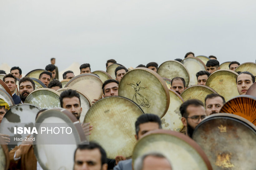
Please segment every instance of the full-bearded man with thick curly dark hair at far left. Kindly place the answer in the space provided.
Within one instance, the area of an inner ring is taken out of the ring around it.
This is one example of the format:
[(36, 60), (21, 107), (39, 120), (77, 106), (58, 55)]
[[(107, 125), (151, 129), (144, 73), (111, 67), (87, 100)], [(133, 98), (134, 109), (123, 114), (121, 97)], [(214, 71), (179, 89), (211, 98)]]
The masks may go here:
[(19, 81), (19, 96), (21, 99), (21, 103), (25, 102), (28, 94), (35, 90), (35, 83), (29, 77), (23, 77)]

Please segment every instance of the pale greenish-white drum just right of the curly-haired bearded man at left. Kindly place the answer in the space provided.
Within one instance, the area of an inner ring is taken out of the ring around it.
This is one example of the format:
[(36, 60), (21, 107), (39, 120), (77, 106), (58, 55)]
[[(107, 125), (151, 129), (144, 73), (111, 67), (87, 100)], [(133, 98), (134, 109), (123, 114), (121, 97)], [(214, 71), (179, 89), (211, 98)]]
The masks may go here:
[(60, 93), (49, 88), (41, 88), (28, 94), (24, 103), (34, 104), (42, 109), (60, 108)]

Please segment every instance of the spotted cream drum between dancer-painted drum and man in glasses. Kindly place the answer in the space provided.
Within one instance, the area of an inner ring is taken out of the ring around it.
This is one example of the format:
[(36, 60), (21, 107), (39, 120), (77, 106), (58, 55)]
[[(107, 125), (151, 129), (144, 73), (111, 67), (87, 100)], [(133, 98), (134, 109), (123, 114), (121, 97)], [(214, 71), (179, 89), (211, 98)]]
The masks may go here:
[(172, 131), (181, 131), (183, 123), (181, 122), (180, 105), (184, 102), (182, 97), (174, 90), (169, 89), (170, 105), (165, 116), (161, 118), (162, 128)]

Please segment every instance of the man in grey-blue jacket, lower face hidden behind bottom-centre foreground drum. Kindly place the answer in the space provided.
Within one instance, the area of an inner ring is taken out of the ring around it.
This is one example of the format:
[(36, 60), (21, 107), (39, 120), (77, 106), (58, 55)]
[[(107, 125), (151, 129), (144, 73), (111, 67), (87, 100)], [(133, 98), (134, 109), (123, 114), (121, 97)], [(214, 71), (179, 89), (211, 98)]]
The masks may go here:
[[(143, 136), (146, 132), (156, 129), (162, 129), (160, 117), (155, 114), (143, 114), (138, 117), (137, 121), (135, 122), (135, 138), (136, 140), (140, 140), (141, 136)], [(131, 170), (131, 162), (132, 159), (120, 161), (117, 166), (114, 167), (114, 170)]]

